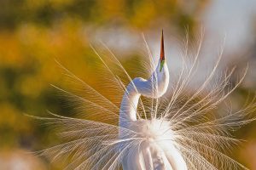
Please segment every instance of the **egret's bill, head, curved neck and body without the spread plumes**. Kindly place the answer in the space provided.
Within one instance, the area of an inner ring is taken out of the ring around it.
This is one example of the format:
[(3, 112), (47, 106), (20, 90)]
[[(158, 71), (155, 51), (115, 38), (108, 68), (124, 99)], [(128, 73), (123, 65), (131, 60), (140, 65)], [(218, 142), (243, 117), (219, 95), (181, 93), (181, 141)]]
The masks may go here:
[[(126, 158), (122, 161), (124, 170), (187, 169), (183, 156), (172, 142), (162, 141), (165, 138), (172, 139), (172, 132), (162, 133), (170, 129), (168, 122), (161, 122), (155, 118), (151, 120), (137, 120), (137, 105), (141, 95), (148, 98), (160, 98), (166, 93), (168, 84), (169, 70), (166, 65), (164, 35), (162, 31), (160, 59), (155, 71), (148, 80), (141, 77), (132, 80), (126, 87), (121, 102), (119, 127), (131, 129), (138, 133), (136, 138), (143, 138), (143, 142), (137, 150), (130, 149), (127, 151)], [(122, 133), (120, 133), (119, 138), (125, 139)]]

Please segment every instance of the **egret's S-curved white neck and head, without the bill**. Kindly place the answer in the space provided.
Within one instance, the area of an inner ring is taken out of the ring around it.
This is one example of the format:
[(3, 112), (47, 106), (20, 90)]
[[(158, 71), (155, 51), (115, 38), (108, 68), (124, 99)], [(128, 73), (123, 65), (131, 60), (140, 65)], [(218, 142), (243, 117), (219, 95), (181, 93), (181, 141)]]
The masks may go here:
[(140, 77), (133, 79), (126, 87), (120, 105), (119, 126), (126, 127), (127, 123), (137, 121), (137, 105), (141, 95), (149, 98), (159, 98), (166, 93), (168, 83), (169, 71), (167, 65), (164, 64), (160, 71), (160, 62), (148, 80)]

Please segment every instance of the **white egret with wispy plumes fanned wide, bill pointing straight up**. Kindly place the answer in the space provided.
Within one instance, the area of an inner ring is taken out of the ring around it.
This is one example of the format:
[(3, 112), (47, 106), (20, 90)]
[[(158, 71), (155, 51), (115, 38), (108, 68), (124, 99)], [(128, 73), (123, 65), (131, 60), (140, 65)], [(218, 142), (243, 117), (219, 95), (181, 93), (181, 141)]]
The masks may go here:
[[(54, 87), (67, 95), (83, 117), (53, 113), (51, 117), (37, 117), (47, 126), (58, 128), (63, 139), (63, 143), (38, 154), (50, 161), (67, 161), (66, 169), (75, 170), (247, 169), (226, 156), (224, 150), (239, 142), (230, 130), (253, 121), (247, 117), (256, 109), (255, 99), (245, 101), (239, 111), (228, 108), (225, 114), (218, 113), (218, 106), (241, 84), (247, 69), (236, 84), (230, 83), (235, 68), (217, 73), (221, 50), (205, 80), (192, 90), (202, 41), (192, 57), (185, 41), (183, 69), (175, 73), (176, 77), (171, 77), (175, 74), (169, 74), (166, 64), (172, 56), (165, 54), (163, 32), (159, 57), (152, 56), (144, 42), (148, 55), (135, 72), (143, 78), (131, 77), (105, 44), (102, 50), (92, 47), (101, 63), (97, 68), (101, 83), (108, 89), (106, 95), (57, 62), (77, 88), (69, 92)], [(158, 62), (154, 63), (156, 58)]]

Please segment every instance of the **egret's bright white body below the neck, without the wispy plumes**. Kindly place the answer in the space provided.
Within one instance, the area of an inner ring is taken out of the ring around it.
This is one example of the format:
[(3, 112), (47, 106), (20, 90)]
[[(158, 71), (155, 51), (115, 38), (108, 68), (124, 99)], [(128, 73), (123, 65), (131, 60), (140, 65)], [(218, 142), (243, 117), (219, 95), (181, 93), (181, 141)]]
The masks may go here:
[[(129, 127), (138, 133), (135, 138), (143, 142), (127, 151), (122, 161), (124, 170), (186, 170), (181, 153), (172, 144), (172, 130), (169, 122), (161, 120), (140, 120)], [(166, 132), (167, 133), (163, 133)]]

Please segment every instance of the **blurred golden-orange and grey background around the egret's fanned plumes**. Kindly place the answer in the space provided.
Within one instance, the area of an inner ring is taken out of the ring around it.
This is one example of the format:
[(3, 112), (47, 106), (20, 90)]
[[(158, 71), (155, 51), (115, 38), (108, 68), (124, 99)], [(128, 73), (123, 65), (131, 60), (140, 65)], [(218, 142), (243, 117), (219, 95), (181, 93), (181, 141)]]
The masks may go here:
[[(56, 139), (48, 128), (24, 116), (45, 116), (46, 110), (68, 115), (61, 106), (65, 97), (60, 99), (50, 87), (64, 82), (55, 59), (97, 86), (96, 66), (91, 62), (96, 54), (90, 43), (106, 43), (126, 64), (140, 58), (142, 33), (158, 56), (163, 28), (166, 54), (175, 71), (175, 57), (186, 32), (193, 40), (201, 27), (205, 32), (202, 64), (212, 62), (210, 56), (217, 53), (224, 37), (219, 69), (237, 65), (239, 74), (249, 64), (245, 81), (232, 95), (235, 103), (245, 100), (256, 89), (254, 0), (1, 0), (0, 169), (63, 168), (29, 153), (55, 144)], [(238, 130), (235, 136), (246, 141), (230, 155), (256, 170), (255, 130), (256, 122)]]

